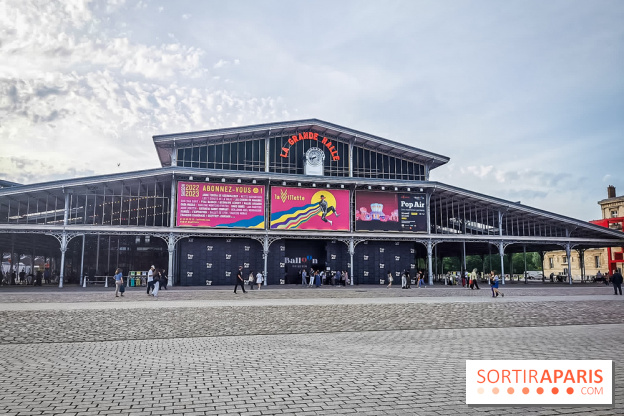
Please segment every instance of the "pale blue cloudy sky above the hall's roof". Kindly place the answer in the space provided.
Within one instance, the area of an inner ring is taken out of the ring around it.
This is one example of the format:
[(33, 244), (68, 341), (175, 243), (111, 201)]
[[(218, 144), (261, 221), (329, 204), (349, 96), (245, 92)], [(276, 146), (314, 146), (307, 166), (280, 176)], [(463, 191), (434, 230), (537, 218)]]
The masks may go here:
[(624, 2), (0, 2), (0, 179), (158, 167), (152, 136), (318, 118), (431, 179), (590, 220), (624, 194)]

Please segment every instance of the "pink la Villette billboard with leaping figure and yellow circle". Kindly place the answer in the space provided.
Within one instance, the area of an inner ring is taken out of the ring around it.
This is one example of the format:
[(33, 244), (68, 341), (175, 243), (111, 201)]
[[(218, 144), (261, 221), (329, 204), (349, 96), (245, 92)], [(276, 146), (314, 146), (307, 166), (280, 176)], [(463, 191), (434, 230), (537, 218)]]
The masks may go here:
[(349, 191), (271, 187), (271, 229), (349, 231)]

